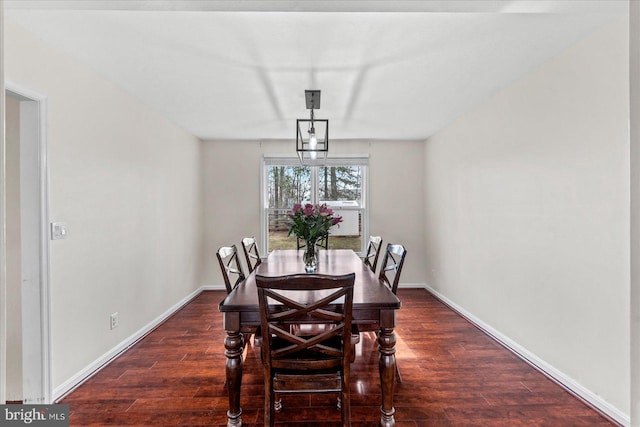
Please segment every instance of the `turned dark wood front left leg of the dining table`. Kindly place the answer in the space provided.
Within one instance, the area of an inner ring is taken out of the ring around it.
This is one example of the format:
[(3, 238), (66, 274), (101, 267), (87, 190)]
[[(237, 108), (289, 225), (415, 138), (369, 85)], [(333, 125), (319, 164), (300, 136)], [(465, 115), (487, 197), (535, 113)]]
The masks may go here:
[(227, 331), (224, 339), (224, 355), (227, 356), (227, 390), (229, 392), (229, 410), (227, 426), (242, 426), (242, 408), (240, 408), (240, 386), (242, 385), (242, 350), (244, 348), (242, 334), (238, 331)]

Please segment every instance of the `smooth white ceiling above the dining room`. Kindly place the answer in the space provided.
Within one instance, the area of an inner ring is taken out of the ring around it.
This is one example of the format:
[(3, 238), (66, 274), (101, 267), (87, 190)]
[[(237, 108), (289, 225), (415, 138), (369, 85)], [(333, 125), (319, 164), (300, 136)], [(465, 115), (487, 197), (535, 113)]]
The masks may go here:
[[(203, 140), (424, 140), (626, 0), (5, 1), (5, 17)], [(7, 40), (6, 43), (10, 43)]]

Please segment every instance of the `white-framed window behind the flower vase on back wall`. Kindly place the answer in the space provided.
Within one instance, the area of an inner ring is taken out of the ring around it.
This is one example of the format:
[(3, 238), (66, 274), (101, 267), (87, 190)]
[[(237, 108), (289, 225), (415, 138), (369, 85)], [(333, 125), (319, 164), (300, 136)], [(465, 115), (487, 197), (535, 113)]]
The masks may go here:
[(262, 173), (264, 253), (295, 249), (287, 214), (295, 203), (326, 203), (343, 222), (329, 233), (331, 249), (362, 253), (368, 233), (366, 157), (330, 158), (324, 166), (302, 166), (297, 158), (265, 157)]

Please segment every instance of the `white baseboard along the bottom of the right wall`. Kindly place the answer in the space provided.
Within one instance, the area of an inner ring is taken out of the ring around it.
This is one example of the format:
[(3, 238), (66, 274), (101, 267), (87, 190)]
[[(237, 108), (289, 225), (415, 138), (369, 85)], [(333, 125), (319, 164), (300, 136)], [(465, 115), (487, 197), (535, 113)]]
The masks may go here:
[[(403, 286), (409, 287), (409, 286)], [(549, 363), (537, 357), (535, 354), (531, 353), (526, 348), (519, 345), (517, 342), (510, 339), (508, 336), (500, 333), (495, 330), (491, 326), (484, 323), (482, 320), (474, 316), (473, 314), (466, 311), (464, 308), (457, 305), (455, 302), (451, 301), (449, 298), (440, 294), (435, 289), (431, 288), (429, 285), (424, 285), (424, 288), (427, 292), (431, 293), (434, 297), (442, 301), (444, 304), (449, 306), (452, 310), (460, 314), (462, 317), (467, 319), (469, 322), (473, 323), (476, 327), (482, 330), (484, 333), (498, 341), (520, 359), (524, 360), (526, 363), (546, 375), (549, 379), (566, 389), (569, 393), (575, 395), (577, 398), (583, 400), (587, 405), (593, 407), (604, 416), (610, 418), (612, 421), (628, 427), (631, 425), (631, 419), (629, 415), (623, 413), (615, 406), (611, 405), (609, 402), (602, 399), (597, 394), (593, 393), (591, 390), (585, 388), (580, 383), (576, 382), (571, 377), (567, 376), (562, 371), (559, 371), (555, 367), (551, 366)]]

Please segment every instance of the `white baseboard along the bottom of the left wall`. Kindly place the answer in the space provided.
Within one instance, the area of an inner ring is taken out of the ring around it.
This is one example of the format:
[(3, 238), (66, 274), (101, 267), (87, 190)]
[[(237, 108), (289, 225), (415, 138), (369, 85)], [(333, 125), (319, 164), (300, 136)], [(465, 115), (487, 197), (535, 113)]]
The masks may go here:
[(162, 322), (167, 320), (175, 312), (180, 310), (182, 307), (184, 307), (186, 304), (188, 304), (191, 300), (193, 300), (195, 297), (197, 297), (202, 291), (209, 290), (209, 289), (211, 289), (211, 290), (216, 289), (217, 290), (217, 289), (224, 289), (224, 288), (217, 287), (217, 286), (211, 286), (211, 287), (202, 286), (202, 287), (196, 289), (191, 294), (187, 295), (182, 300), (180, 300), (179, 302), (174, 304), (171, 308), (169, 308), (167, 311), (162, 313), (160, 316), (156, 317), (153, 321), (151, 321), (145, 327), (140, 329), (138, 332), (136, 332), (133, 335), (129, 336), (127, 339), (125, 339), (124, 341), (119, 343), (117, 346), (115, 346), (114, 348), (112, 348), (111, 350), (109, 350), (108, 352), (103, 354), (102, 356), (100, 356), (93, 363), (89, 364), (87, 367), (82, 369), (80, 372), (75, 374), (73, 377), (69, 378), (67, 381), (65, 381), (64, 383), (60, 384), (58, 387), (56, 387), (53, 390), (53, 402), (59, 401), (64, 396), (66, 396), (67, 394), (69, 394), (70, 392), (75, 390), (78, 386), (80, 386), (89, 377), (91, 377), (93, 374), (95, 374), (100, 369), (102, 369), (104, 366), (106, 366), (111, 360), (113, 360), (114, 358), (118, 357), (122, 352), (124, 352), (129, 347), (134, 345), (140, 339), (144, 338), (145, 335), (147, 335), (149, 332), (151, 332), (152, 330), (157, 328)]

